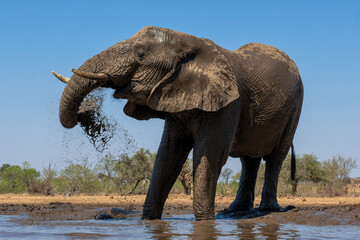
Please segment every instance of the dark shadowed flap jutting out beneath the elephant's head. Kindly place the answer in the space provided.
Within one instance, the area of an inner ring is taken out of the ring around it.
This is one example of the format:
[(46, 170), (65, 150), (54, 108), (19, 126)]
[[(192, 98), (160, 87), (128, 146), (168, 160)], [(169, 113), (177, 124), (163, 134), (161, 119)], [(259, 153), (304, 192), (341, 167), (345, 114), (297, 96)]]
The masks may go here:
[(158, 112), (152, 110), (148, 106), (139, 105), (128, 101), (124, 106), (124, 113), (129, 117), (135, 118), (137, 120), (149, 120), (150, 118), (161, 118), (165, 119), (164, 112)]

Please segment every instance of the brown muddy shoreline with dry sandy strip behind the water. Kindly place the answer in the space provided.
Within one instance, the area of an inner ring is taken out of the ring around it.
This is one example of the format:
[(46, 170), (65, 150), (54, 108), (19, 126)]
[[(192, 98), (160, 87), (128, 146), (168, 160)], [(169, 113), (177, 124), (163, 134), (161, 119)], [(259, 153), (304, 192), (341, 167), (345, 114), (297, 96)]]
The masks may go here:
[[(234, 198), (235, 196), (217, 196), (215, 212), (225, 209)], [(0, 215), (25, 214), (27, 217), (18, 221), (26, 225), (94, 219), (102, 213), (110, 214), (112, 208), (129, 210), (131, 217), (140, 217), (144, 200), (144, 195), (66, 197), (6, 194), (0, 195)], [(296, 208), (240, 221), (249, 224), (360, 225), (359, 197), (279, 198), (279, 203), (282, 207), (293, 205)], [(259, 199), (256, 199), (255, 206), (258, 204)], [(192, 214), (192, 211), (192, 196), (171, 194), (166, 201), (163, 218)], [(119, 218), (122, 217), (127, 216), (119, 215)]]

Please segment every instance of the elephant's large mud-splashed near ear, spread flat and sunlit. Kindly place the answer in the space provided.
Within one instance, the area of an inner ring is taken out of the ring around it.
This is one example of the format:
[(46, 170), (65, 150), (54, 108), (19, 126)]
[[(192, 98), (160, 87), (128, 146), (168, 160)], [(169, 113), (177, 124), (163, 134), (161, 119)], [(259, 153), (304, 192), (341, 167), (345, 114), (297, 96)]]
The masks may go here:
[(154, 87), (147, 104), (164, 112), (217, 111), (239, 97), (230, 51), (210, 40), (178, 54), (178, 66)]

